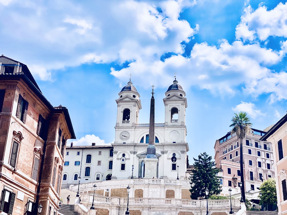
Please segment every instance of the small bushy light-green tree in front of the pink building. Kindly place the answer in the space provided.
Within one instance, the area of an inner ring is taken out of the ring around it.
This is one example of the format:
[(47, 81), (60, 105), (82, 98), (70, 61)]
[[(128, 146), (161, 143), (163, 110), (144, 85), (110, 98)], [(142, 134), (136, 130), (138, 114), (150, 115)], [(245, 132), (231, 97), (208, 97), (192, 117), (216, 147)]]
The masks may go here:
[(274, 204), (277, 202), (275, 179), (269, 178), (263, 181), (259, 189), (262, 193), (259, 204)]

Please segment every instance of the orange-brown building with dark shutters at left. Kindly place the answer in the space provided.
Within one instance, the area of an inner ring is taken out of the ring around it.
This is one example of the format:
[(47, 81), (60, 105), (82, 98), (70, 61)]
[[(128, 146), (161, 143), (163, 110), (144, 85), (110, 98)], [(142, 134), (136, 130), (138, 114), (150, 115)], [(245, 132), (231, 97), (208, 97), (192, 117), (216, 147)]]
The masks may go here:
[(75, 138), (66, 107), (53, 107), (28, 67), (0, 56), (1, 214), (56, 215), (66, 140)]

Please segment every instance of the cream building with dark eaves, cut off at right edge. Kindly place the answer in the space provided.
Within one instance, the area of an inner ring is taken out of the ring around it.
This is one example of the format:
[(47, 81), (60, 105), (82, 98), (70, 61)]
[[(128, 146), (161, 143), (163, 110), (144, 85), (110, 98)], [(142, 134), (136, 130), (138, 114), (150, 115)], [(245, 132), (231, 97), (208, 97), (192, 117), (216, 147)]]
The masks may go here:
[(287, 214), (287, 114), (260, 140), (272, 142), (278, 214)]

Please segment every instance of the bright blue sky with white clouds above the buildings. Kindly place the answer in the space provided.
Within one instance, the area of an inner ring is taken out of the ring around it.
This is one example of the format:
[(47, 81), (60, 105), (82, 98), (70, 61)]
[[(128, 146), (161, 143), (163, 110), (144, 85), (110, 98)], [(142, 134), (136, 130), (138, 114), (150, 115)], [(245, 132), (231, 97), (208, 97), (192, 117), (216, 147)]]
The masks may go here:
[(164, 123), (174, 73), (186, 92), (189, 163), (247, 112), (263, 130), (286, 114), (287, 4), (266, 0), (0, 0), (0, 50), (28, 66), (74, 145), (115, 139), (121, 88), (141, 95), (139, 123)]

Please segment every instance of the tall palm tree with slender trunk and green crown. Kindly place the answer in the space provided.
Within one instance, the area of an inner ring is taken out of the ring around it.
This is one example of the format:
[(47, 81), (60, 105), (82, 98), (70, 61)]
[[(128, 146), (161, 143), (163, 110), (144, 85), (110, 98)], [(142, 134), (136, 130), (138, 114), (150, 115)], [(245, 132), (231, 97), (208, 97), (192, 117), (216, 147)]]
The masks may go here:
[(232, 134), (236, 133), (238, 142), (240, 142), (240, 175), (242, 182), (242, 198), (245, 202), (245, 183), (244, 183), (244, 172), (243, 172), (243, 138), (247, 132), (249, 132), (252, 123), (250, 118), (247, 116), (246, 112), (239, 112), (238, 114), (234, 113), (235, 116), (232, 117), (232, 124), (229, 127), (232, 127)]

